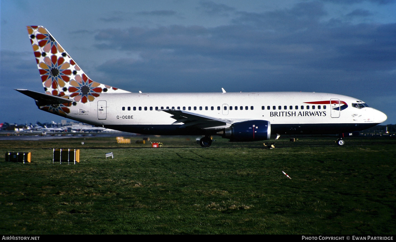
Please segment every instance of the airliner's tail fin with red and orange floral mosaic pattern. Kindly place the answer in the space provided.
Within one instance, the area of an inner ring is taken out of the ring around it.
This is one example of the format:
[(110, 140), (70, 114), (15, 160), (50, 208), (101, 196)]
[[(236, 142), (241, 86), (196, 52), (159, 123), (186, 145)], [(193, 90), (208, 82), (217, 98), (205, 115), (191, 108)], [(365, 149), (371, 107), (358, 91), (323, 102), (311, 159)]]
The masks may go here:
[(27, 30), (46, 94), (87, 103), (102, 93), (128, 92), (89, 79), (46, 28), (27, 26)]

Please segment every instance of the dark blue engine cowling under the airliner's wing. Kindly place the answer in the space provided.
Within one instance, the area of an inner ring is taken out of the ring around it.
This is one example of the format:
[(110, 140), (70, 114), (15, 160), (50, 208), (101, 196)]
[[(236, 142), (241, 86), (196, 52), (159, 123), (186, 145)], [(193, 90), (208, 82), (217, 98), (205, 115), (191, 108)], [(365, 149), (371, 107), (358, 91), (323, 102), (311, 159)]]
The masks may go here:
[(224, 130), (223, 138), (231, 142), (268, 140), (271, 136), (271, 123), (266, 120), (249, 120), (233, 123)]

